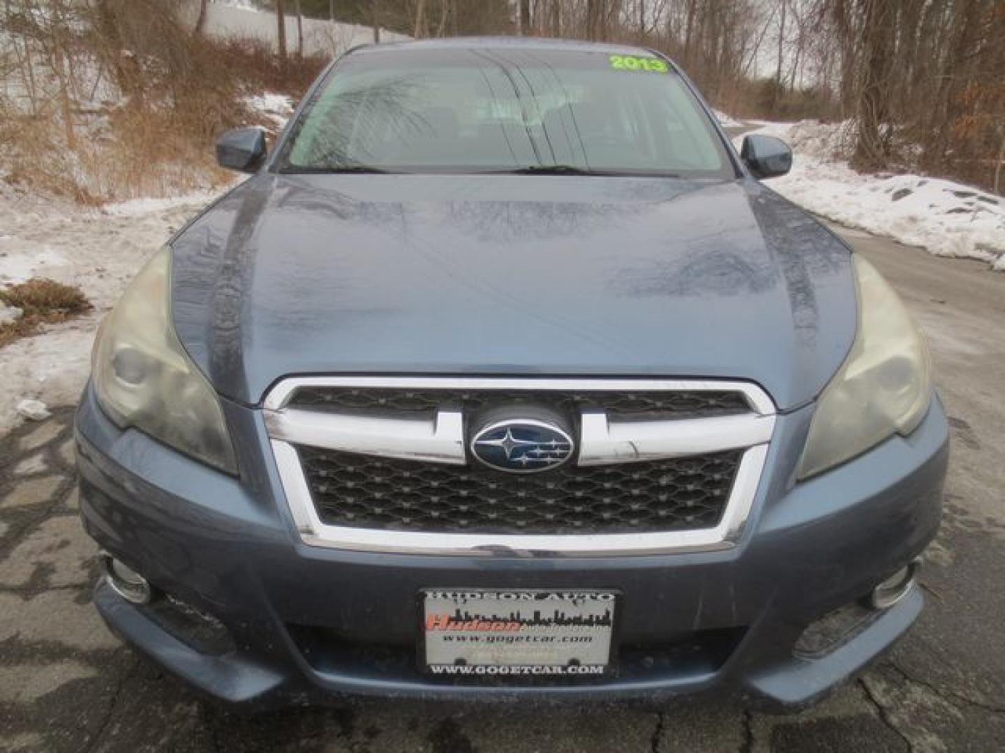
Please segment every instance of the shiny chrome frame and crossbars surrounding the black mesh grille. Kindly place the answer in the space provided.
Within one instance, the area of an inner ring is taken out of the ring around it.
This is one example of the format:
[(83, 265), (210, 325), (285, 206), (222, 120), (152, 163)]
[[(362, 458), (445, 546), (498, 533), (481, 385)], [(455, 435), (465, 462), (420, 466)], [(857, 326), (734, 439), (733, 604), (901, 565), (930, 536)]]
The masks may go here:
[[(287, 409), (300, 387), (431, 388), (556, 391), (718, 391), (743, 393), (752, 411), (740, 416), (673, 421), (609, 421), (581, 415), (580, 465), (698, 455), (747, 448), (723, 517), (714, 528), (646, 533), (483, 534), (390, 531), (324, 523), (293, 444), (405, 460), (463, 465), (463, 417), (387, 419)], [(357, 551), (463, 556), (615, 556), (715, 551), (736, 545), (750, 515), (775, 424), (771, 399), (743, 382), (490, 378), (294, 378), (266, 396), (264, 419), (279, 478), (300, 539), (310, 546)]]

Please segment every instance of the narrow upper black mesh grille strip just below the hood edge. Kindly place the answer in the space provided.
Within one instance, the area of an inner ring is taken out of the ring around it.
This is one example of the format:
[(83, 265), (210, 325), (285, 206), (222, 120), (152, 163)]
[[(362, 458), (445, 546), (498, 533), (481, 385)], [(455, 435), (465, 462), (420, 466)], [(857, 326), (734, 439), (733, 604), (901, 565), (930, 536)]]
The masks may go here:
[(335, 413), (431, 414), (449, 408), (465, 414), (489, 406), (547, 406), (566, 414), (584, 410), (604, 411), (619, 418), (646, 421), (665, 418), (730, 416), (751, 410), (736, 391), (566, 391), (553, 390), (462, 390), (409, 388), (308, 387), (298, 389), (290, 408)]

